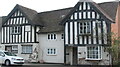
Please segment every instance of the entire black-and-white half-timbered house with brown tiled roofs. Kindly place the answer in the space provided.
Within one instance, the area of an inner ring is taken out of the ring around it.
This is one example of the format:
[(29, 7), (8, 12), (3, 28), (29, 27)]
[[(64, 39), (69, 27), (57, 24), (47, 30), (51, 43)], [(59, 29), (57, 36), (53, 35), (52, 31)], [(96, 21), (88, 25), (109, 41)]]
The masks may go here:
[(107, 35), (116, 9), (116, 2), (91, 0), (41, 13), (16, 5), (2, 19), (0, 46), (29, 62), (109, 65), (111, 56), (104, 48), (110, 45)]

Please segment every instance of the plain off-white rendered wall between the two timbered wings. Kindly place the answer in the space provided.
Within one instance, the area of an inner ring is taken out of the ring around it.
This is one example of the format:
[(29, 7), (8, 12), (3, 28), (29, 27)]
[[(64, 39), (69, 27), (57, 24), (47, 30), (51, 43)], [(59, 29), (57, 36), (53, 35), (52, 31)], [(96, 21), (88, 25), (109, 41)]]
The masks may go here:
[[(57, 39), (48, 40), (47, 34), (39, 34), (39, 60), (47, 63), (64, 63), (64, 40), (61, 39), (62, 33), (56, 33)], [(47, 49), (55, 48), (56, 55), (48, 55)]]

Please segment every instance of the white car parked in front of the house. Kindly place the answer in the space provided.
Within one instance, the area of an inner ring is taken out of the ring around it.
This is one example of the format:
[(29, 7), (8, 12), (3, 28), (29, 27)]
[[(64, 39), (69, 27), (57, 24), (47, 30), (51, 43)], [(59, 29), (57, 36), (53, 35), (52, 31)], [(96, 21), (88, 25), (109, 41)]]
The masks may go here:
[(0, 50), (0, 64), (5, 64), (6, 66), (22, 65), (24, 64), (24, 59), (16, 56), (14, 53)]

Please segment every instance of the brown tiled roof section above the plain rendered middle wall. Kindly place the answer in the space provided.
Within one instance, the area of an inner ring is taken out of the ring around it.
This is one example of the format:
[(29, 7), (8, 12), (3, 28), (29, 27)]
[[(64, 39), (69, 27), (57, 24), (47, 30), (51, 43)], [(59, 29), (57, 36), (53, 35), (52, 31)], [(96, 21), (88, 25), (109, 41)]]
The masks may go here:
[(59, 25), (59, 23), (65, 18), (71, 9), (72, 8), (65, 8), (39, 13), (39, 18), (41, 18), (44, 23), (44, 27), (39, 33), (63, 31), (64, 27)]

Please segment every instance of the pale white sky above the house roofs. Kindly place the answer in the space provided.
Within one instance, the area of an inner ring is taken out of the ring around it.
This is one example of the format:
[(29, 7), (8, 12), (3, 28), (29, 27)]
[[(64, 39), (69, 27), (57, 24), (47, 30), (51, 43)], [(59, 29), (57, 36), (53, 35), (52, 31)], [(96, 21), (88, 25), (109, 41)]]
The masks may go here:
[[(74, 7), (79, 0), (0, 0), (0, 16), (7, 16), (16, 4), (36, 10), (37, 12), (51, 11)], [(116, 0), (93, 0), (96, 3)]]

